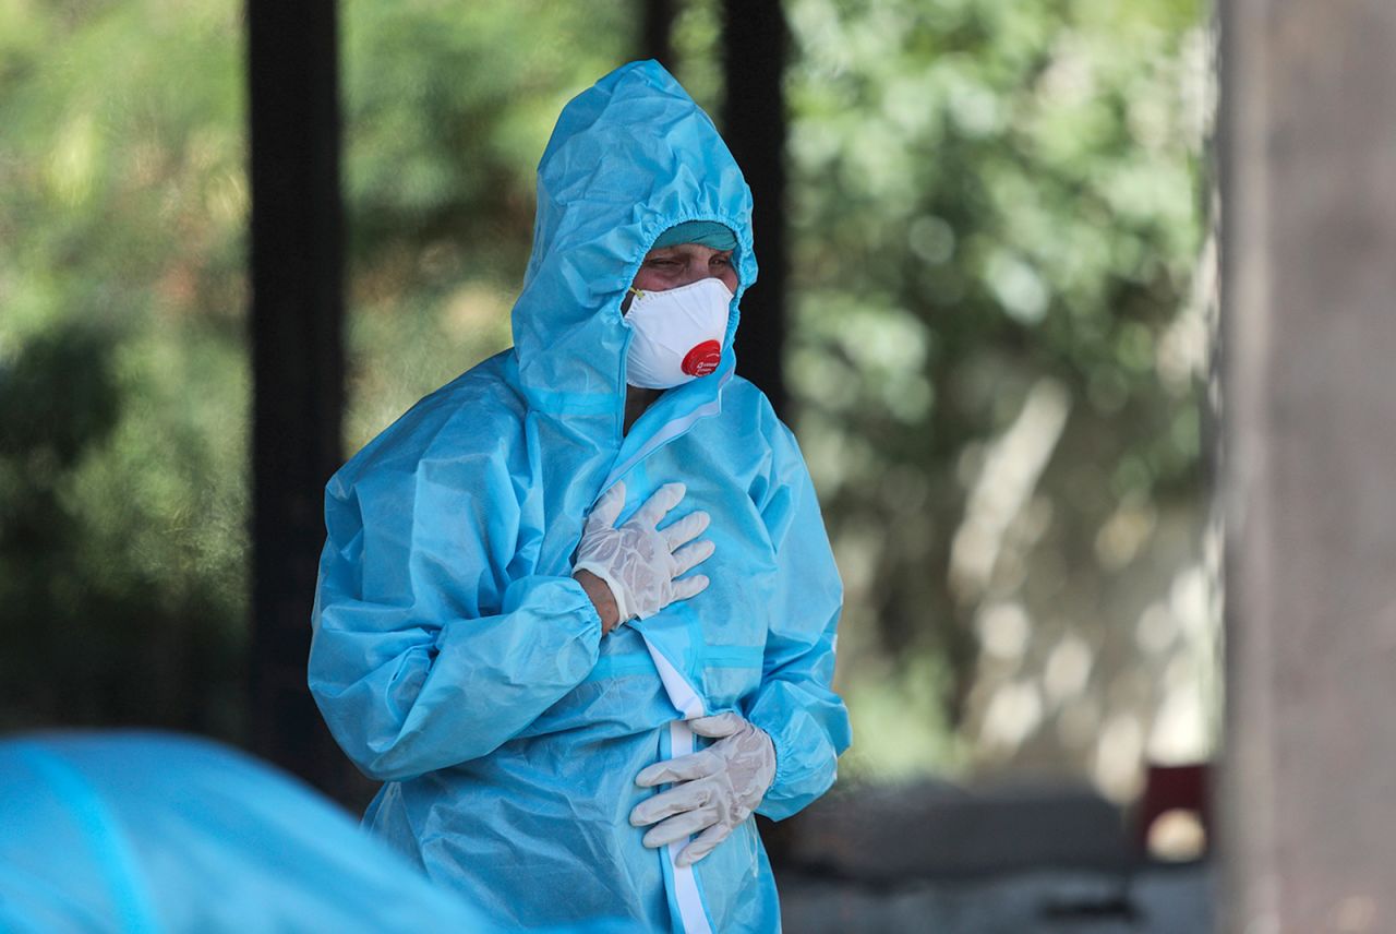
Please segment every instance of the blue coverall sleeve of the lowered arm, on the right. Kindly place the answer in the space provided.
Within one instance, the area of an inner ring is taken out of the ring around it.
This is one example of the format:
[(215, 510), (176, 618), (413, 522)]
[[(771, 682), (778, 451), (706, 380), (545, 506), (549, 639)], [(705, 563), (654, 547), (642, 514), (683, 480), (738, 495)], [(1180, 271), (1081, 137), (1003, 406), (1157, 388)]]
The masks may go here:
[(847, 709), (832, 690), (843, 585), (804, 458), (778, 427), (773, 480), (761, 503), (778, 581), (761, 687), (747, 711), (776, 750), (775, 779), (757, 808), (772, 820), (824, 794), (852, 741)]

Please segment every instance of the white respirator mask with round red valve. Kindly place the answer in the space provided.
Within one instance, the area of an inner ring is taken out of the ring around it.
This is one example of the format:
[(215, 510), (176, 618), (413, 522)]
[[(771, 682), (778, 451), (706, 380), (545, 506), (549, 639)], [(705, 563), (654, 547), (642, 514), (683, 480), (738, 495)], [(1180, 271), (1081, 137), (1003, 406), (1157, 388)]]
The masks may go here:
[(670, 390), (708, 376), (722, 360), (732, 289), (699, 279), (663, 292), (631, 290), (625, 321), (635, 332), (625, 357), (625, 383)]

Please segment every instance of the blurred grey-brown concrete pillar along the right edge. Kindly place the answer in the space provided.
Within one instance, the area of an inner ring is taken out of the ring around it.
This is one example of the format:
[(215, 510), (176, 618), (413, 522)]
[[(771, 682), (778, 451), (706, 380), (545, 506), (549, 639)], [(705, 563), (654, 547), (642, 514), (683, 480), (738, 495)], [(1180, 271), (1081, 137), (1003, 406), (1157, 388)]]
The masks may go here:
[(1396, 4), (1223, 0), (1228, 931), (1396, 931)]

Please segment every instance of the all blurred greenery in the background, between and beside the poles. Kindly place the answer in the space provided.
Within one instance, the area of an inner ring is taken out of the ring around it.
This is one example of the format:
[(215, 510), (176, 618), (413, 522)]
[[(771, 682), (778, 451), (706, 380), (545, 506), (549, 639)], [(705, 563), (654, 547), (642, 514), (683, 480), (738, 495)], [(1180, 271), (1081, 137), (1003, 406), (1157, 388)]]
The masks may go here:
[[(847, 588), (845, 780), (1128, 800), (1217, 741), (1205, 10), (786, 14), (786, 360)], [(247, 739), (240, 15), (0, 0), (0, 729)], [(510, 343), (537, 156), (641, 10), (341, 17), (348, 455)], [(716, 116), (718, 4), (673, 42)]]

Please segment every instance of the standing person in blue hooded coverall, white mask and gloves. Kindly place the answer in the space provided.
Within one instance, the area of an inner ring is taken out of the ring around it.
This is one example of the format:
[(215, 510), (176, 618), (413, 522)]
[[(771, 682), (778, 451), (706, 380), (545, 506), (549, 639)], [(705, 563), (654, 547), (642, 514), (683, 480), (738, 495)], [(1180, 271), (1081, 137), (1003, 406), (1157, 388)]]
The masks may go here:
[(751, 193), (653, 61), (567, 105), (515, 345), (329, 482), (310, 687), (364, 817), (517, 927), (775, 931), (751, 813), (822, 794), (842, 586), (734, 374)]

